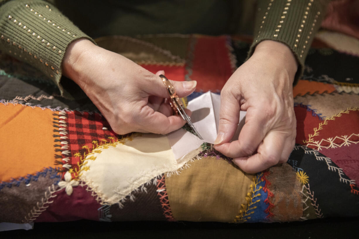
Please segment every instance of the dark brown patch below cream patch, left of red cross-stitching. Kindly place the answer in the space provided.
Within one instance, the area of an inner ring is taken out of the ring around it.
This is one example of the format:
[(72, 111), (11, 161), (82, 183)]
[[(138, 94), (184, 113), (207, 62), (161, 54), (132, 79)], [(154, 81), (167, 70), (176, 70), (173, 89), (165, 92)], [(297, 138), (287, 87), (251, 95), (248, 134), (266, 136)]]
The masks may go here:
[(141, 189), (134, 191), (132, 193), (134, 201), (126, 198), (127, 200), (122, 202), (123, 208), (120, 208), (118, 204), (111, 205), (109, 208), (111, 221), (166, 220), (156, 191), (157, 180), (155, 183), (151, 181), (149, 185), (145, 185), (146, 191)]

